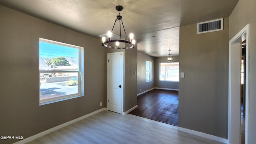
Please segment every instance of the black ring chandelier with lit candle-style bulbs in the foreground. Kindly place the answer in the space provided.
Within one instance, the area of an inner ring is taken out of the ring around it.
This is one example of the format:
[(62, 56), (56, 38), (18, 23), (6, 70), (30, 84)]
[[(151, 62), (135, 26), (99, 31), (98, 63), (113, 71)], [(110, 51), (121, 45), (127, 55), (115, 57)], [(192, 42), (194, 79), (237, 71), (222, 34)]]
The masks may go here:
[(123, 10), (123, 7), (122, 6), (116, 6), (116, 10), (118, 11), (118, 16), (116, 16), (114, 26), (116, 24), (116, 21), (119, 20), (120, 38), (118, 40), (112, 40), (111, 39), (112, 31), (114, 29), (114, 26), (113, 26), (112, 30), (108, 31), (108, 39), (106, 40), (106, 38), (104, 36), (102, 37), (102, 46), (105, 46), (107, 48), (114, 48), (114, 49), (134, 48), (135, 40), (133, 39), (134, 35), (132, 33), (130, 34), (130, 41), (128, 41), (125, 29), (124, 29), (124, 33), (125, 33), (126, 39), (122, 40), (122, 37), (121, 37), (121, 22), (122, 22), (123, 28), (124, 28), (124, 24), (123, 24), (123, 21), (122, 21), (122, 16), (120, 16), (120, 11)]

